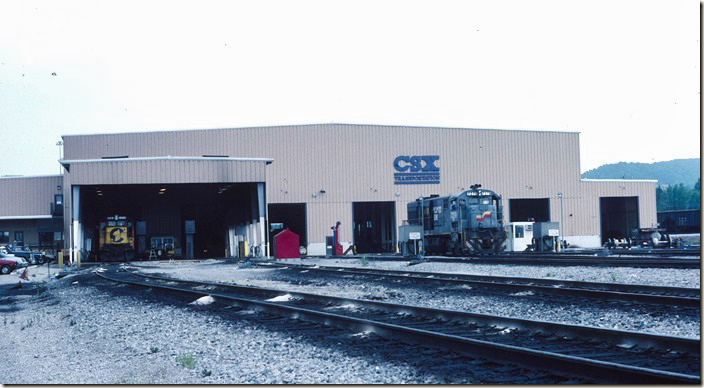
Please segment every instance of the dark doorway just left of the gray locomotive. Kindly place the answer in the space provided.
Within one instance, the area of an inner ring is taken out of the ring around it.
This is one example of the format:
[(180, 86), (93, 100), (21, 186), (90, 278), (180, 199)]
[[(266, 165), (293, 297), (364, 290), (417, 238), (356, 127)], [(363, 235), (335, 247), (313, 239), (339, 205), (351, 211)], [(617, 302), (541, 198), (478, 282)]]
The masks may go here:
[(354, 244), (358, 253), (396, 252), (393, 202), (352, 203)]

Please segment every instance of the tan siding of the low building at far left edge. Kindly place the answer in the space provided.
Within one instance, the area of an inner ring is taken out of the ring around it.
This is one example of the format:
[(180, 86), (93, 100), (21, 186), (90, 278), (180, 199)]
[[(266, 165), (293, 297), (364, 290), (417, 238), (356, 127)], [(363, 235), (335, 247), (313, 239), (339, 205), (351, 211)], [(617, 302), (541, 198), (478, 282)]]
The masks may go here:
[(51, 215), (61, 175), (0, 178), (0, 217)]

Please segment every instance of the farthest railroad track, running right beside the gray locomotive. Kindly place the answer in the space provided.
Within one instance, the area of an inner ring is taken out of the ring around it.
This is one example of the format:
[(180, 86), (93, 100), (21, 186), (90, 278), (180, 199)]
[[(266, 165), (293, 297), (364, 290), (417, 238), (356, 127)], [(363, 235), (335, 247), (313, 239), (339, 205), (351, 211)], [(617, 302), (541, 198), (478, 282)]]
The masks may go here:
[[(400, 255), (354, 255), (354, 256), (307, 256), (315, 259), (362, 259), (380, 261), (411, 261), (416, 259)], [(491, 255), (477, 257), (425, 256), (424, 261), (439, 263), (588, 266), (588, 267), (636, 267), (636, 268), (701, 268), (699, 258), (653, 258), (653, 257), (609, 257), (588, 255)]]

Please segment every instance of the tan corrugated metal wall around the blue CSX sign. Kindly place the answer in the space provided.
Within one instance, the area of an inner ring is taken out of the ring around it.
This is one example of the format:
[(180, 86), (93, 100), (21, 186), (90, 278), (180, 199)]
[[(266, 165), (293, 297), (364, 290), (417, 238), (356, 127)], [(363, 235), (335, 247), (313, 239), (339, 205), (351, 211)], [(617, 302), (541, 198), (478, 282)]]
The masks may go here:
[[(338, 220), (343, 223), (343, 241), (348, 241), (353, 201), (396, 201), (398, 226), (405, 219), (406, 202), (419, 195), (455, 193), (473, 183), (501, 194), (507, 214), (509, 198), (550, 198), (554, 221), (559, 221), (557, 193), (562, 192), (566, 232), (595, 235), (598, 197), (620, 190), (610, 182), (580, 182), (576, 132), (315, 124), (65, 136), (64, 154), (66, 159), (272, 158), (266, 171), (267, 201), (307, 203), (310, 242), (323, 242)], [(394, 185), (392, 163), (399, 155), (439, 155), (441, 183)], [(654, 184), (620, 185), (641, 197), (641, 224), (654, 220)]]

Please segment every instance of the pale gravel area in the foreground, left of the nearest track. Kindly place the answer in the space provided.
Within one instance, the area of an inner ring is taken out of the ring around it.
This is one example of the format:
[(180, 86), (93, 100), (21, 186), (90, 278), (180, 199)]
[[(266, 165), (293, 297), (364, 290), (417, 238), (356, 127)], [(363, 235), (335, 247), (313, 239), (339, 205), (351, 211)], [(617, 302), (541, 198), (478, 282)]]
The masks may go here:
[(399, 360), (350, 355), (266, 325), (73, 282), (2, 301), (5, 384), (446, 382)]

